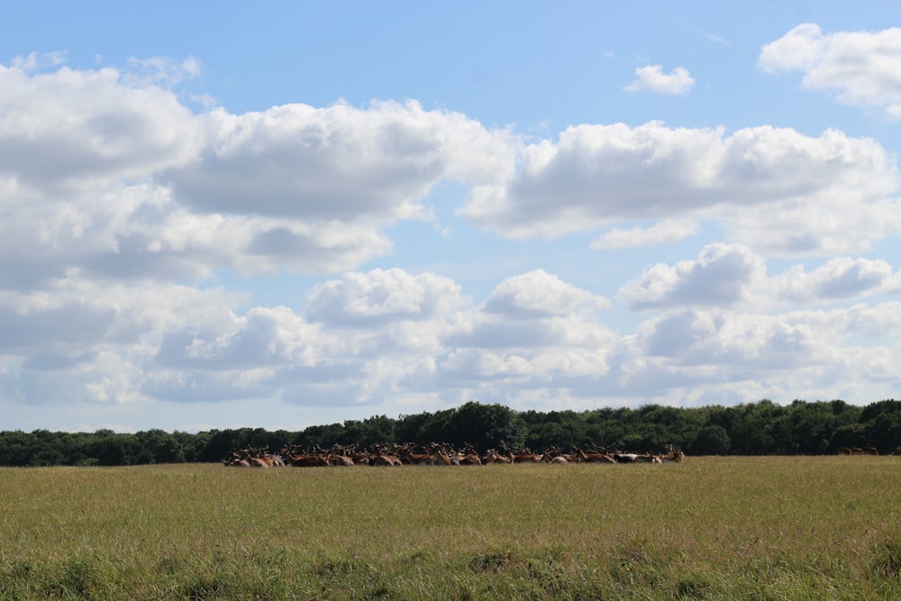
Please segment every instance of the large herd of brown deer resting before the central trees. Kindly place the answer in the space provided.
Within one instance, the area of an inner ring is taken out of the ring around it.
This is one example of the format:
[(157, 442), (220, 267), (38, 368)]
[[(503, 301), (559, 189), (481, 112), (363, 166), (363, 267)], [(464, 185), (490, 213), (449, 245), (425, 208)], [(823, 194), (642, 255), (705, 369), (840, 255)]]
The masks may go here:
[(663, 453), (628, 453), (611, 449), (593, 449), (586, 451), (576, 448), (563, 452), (551, 447), (542, 453), (529, 450), (497, 451), (490, 449), (479, 454), (472, 445), (462, 450), (454, 450), (450, 445), (432, 443), (428, 447), (417, 447), (413, 444), (394, 444), (388, 448), (385, 444), (374, 444), (369, 451), (359, 451), (357, 445), (333, 445), (331, 449), (316, 447), (314, 451), (301, 451), (296, 445), (288, 445), (277, 454), (270, 453), (267, 448), (241, 449), (223, 459), (229, 467), (243, 468), (278, 468), (290, 466), (295, 468), (314, 468), (328, 466), (453, 466), (453, 465), (487, 465), (491, 463), (551, 463), (563, 465), (567, 463), (679, 463), (685, 460), (685, 453), (677, 451), (673, 445), (667, 445)]

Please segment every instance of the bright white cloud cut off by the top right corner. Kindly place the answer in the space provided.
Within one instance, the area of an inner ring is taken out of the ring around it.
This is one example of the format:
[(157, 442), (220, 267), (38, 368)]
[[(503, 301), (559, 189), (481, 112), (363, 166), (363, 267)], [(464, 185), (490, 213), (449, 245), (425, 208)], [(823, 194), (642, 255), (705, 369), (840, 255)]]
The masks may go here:
[(802, 23), (763, 46), (758, 65), (769, 72), (801, 71), (805, 88), (901, 118), (901, 28), (826, 34), (815, 23)]

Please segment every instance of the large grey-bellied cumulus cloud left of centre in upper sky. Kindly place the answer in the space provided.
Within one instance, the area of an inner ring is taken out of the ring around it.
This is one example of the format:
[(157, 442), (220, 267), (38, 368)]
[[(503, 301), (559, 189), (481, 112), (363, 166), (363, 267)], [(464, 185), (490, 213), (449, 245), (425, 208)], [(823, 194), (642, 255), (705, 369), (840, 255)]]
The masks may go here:
[(205, 132), (196, 160), (163, 179), (187, 205), (233, 214), (393, 223), (422, 217), (441, 180), (503, 177), (515, 158), (505, 132), (413, 101), (220, 110)]

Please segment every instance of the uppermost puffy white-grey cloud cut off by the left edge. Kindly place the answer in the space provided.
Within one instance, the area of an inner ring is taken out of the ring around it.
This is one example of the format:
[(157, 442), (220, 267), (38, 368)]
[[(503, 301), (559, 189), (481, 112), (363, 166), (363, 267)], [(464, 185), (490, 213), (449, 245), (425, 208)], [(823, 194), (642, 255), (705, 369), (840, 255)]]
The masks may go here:
[(44, 202), (147, 178), (195, 155), (201, 130), (176, 96), (113, 68), (31, 75), (0, 65), (0, 177)]

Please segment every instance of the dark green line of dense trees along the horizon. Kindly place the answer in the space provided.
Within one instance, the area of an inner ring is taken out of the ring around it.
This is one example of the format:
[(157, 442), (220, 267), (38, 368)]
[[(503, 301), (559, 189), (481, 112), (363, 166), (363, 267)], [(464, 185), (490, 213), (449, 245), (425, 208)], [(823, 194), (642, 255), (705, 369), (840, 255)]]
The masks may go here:
[(627, 451), (660, 451), (667, 444), (688, 455), (822, 455), (839, 447), (873, 446), (880, 453), (901, 444), (901, 401), (871, 405), (835, 401), (769, 400), (735, 406), (678, 408), (645, 405), (590, 411), (514, 411), (504, 405), (470, 401), (435, 413), (385, 415), (362, 421), (314, 425), (303, 432), (262, 428), (198, 433), (149, 430), (134, 434), (0, 432), (2, 466), (120, 466), (148, 463), (216, 462), (231, 451), (288, 444), (323, 448), (334, 444), (446, 442), (491, 448), (542, 451), (605, 446)]

